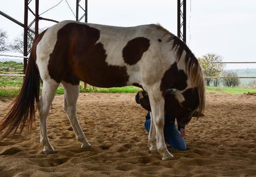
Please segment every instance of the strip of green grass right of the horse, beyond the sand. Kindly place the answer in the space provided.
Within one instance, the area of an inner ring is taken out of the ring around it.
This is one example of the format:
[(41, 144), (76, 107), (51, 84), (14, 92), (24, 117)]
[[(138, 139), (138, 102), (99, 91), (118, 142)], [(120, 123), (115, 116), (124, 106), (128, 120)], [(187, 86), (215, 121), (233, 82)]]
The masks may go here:
[(243, 94), (243, 93), (253, 93), (256, 89), (251, 88), (241, 88), (241, 87), (212, 87), (206, 86), (207, 93), (228, 93), (228, 94)]

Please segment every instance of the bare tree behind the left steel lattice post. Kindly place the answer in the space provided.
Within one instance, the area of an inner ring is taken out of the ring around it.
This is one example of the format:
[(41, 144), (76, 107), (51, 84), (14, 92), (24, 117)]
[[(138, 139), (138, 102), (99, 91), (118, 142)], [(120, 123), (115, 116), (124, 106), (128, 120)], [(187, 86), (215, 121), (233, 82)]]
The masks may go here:
[[(35, 28), (33, 28), (33, 30), (35, 30)], [(44, 31), (45, 28), (39, 28), (39, 33), (41, 33), (42, 31)], [(32, 33), (31, 31), (28, 31), (28, 36), (31, 36), (33, 38), (35, 38), (35, 34)], [(24, 41), (24, 31), (21, 32), (21, 34), (19, 34), (14, 41), (9, 45), (10, 51), (14, 51), (14, 52), (18, 52), (24, 55), (23, 52), (23, 41)], [(33, 40), (28, 37), (28, 51), (31, 49), (33, 44)]]

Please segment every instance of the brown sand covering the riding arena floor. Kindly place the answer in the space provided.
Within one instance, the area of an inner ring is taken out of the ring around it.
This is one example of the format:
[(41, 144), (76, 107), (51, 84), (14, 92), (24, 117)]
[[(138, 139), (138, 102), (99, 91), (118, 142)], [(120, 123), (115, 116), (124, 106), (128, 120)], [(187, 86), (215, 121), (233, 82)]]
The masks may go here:
[[(10, 101), (0, 102), (0, 119)], [(80, 94), (77, 115), (92, 148), (76, 141), (56, 95), (48, 116), (48, 136), (56, 153), (45, 155), (39, 122), (31, 136), (0, 141), (4, 176), (256, 176), (256, 96), (207, 94), (205, 117), (186, 127), (187, 151), (167, 146), (175, 160), (150, 154), (144, 129), (147, 113), (132, 94)]]

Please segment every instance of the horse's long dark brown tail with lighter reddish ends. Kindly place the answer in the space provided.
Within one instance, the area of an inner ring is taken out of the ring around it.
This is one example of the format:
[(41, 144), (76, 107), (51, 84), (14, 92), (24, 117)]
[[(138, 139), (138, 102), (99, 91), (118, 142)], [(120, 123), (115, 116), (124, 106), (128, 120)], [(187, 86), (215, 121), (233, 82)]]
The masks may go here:
[(14, 135), (19, 126), (19, 134), (22, 133), (26, 125), (28, 133), (31, 133), (31, 128), (35, 124), (35, 112), (40, 92), (40, 76), (34, 57), (35, 51), (32, 47), (21, 91), (14, 99), (10, 111), (0, 122), (0, 133), (8, 127), (0, 140), (3, 140), (10, 133)]

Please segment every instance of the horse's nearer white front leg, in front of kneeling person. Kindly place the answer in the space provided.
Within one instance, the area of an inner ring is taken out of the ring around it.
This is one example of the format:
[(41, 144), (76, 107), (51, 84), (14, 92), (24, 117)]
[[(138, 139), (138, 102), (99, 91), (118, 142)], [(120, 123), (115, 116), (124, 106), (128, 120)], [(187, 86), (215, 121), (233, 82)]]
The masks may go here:
[[(149, 100), (152, 110), (152, 120), (156, 129), (156, 148), (158, 152), (162, 156), (162, 160), (173, 160), (173, 155), (167, 150), (164, 135), (163, 135), (163, 127), (164, 127), (164, 98), (162, 96), (162, 92), (160, 90), (150, 90), (148, 92)], [(150, 129), (153, 126), (150, 127)], [(153, 132), (153, 129), (152, 129)], [(153, 142), (153, 141), (152, 141)], [(150, 141), (150, 143), (152, 143)], [(152, 147), (154, 144), (150, 144)], [(151, 148), (150, 147), (150, 148)], [(154, 148), (154, 146), (152, 147)]]

